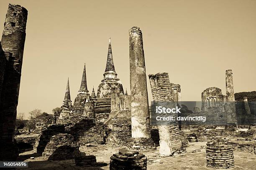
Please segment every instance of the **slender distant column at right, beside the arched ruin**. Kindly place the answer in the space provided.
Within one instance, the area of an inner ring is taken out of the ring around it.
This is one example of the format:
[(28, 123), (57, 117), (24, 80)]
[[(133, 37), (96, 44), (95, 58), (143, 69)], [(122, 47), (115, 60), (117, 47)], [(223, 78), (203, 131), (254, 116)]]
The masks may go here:
[(229, 125), (237, 125), (236, 104), (232, 74), (232, 70), (226, 70), (226, 113), (227, 123)]

